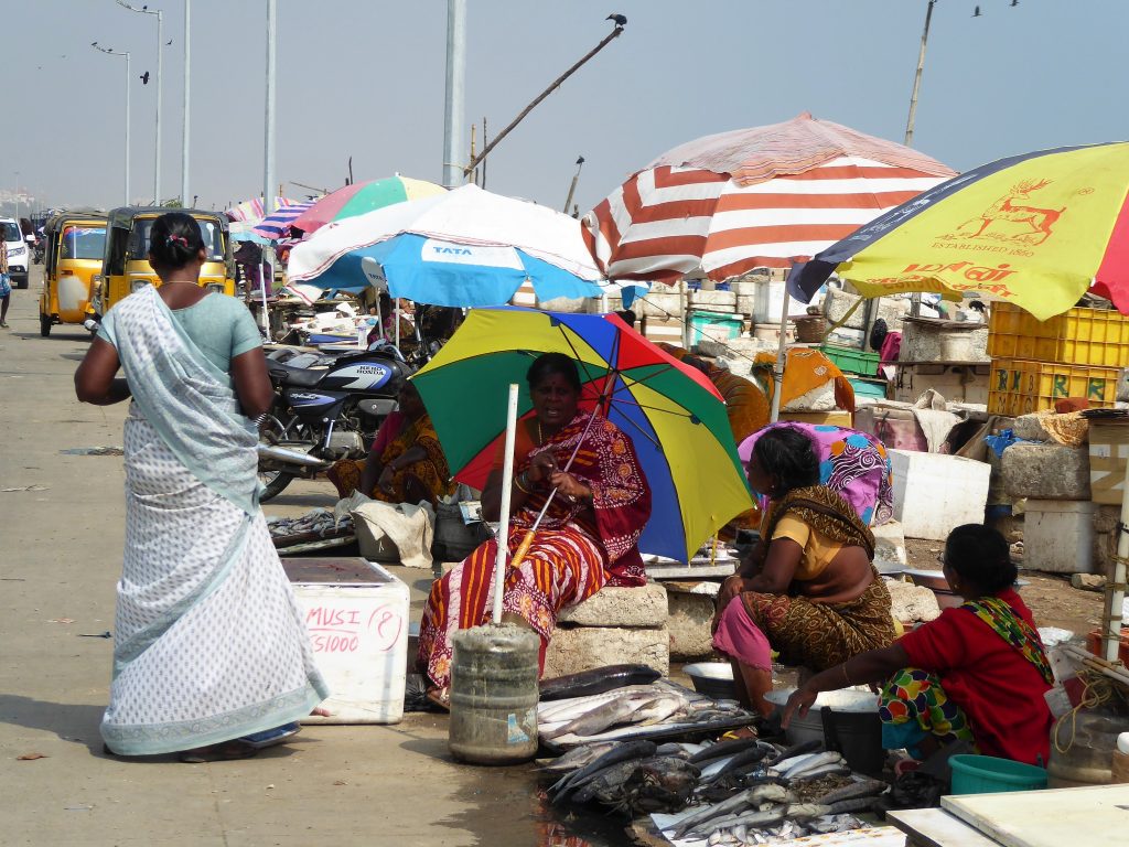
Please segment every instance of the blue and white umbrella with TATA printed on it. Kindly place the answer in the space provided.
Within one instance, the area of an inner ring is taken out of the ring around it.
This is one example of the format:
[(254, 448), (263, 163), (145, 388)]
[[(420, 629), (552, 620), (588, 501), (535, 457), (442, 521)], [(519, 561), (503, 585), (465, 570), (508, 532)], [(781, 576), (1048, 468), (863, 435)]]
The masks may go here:
[(322, 227), (294, 247), (288, 277), (439, 306), (500, 306), (531, 283), (539, 300), (598, 297), (602, 273), (580, 224), (475, 185)]

